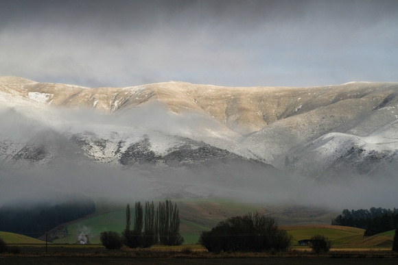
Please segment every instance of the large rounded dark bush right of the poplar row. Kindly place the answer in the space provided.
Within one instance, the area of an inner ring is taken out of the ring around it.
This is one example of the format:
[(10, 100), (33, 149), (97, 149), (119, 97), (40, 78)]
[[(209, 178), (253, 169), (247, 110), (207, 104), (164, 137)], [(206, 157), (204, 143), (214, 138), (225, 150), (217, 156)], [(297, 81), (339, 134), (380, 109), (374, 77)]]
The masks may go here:
[(199, 238), (208, 251), (284, 251), (290, 247), (291, 236), (279, 229), (277, 220), (255, 212), (228, 218), (211, 231), (202, 231)]

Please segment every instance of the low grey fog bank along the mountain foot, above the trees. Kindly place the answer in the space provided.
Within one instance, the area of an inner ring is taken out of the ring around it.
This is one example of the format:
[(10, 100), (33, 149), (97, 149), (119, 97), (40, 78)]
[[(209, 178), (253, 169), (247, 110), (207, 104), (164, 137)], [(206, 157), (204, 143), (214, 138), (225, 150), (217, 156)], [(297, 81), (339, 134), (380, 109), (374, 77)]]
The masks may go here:
[(250, 166), (219, 168), (113, 168), (101, 164), (59, 164), (50, 168), (2, 166), (0, 201), (56, 201), (79, 193), (101, 201), (126, 203), (161, 198), (226, 197), (264, 205), (305, 205), (334, 210), (396, 207), (398, 181), (349, 176), (331, 184)]

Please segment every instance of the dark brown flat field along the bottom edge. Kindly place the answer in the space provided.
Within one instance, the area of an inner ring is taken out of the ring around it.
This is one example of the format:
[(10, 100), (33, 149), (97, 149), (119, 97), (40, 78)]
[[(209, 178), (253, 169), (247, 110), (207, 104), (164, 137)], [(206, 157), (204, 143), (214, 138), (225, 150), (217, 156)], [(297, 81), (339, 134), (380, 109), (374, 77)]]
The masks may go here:
[(1, 264), (398, 264), (398, 253), (385, 249), (333, 249), (315, 255), (304, 249), (281, 253), (208, 253), (196, 246), (174, 249), (121, 249), (98, 245), (18, 245), (19, 254), (1, 254)]

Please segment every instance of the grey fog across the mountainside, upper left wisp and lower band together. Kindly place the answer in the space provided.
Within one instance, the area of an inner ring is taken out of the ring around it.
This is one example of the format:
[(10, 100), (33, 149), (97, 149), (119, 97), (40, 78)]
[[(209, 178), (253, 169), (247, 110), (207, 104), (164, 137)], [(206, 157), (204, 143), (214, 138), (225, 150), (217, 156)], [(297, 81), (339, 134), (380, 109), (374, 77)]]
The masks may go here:
[[(120, 203), (228, 197), (265, 205), (316, 205), (336, 210), (395, 207), (397, 180), (383, 176), (371, 179), (347, 175), (338, 176), (336, 181), (316, 181), (253, 160), (236, 159), (193, 167), (121, 166), (93, 161), (71, 141), (73, 134), (88, 131), (106, 141), (115, 137), (137, 142), (146, 135), (150, 142), (156, 142), (156, 137), (173, 142), (176, 136), (194, 136), (194, 131), (200, 132), (198, 127), (202, 131), (216, 127), (206, 119), (198, 118), (198, 123), (191, 114), (167, 114), (157, 105), (148, 108), (152, 111), (133, 109), (112, 115), (86, 110), (38, 110), (36, 118), (27, 118), (18, 107), (1, 111), (0, 202), (54, 200), (58, 194), (80, 193)], [(200, 138), (200, 133), (195, 137)], [(37, 146), (48, 151), (44, 160), (21, 154), (21, 150)]]

